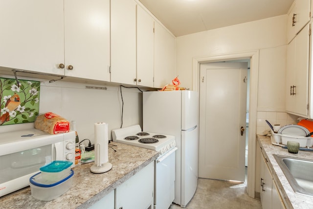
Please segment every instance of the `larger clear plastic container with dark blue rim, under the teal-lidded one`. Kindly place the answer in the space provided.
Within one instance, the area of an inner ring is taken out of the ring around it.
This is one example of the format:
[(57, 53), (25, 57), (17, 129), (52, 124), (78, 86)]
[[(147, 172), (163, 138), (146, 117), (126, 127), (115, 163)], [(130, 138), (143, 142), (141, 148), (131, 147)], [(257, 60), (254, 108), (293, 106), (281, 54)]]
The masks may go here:
[(72, 186), (72, 177), (74, 171), (58, 182), (47, 181), (42, 178), (42, 173), (39, 172), (29, 179), (31, 196), (37, 200), (49, 201), (64, 194)]

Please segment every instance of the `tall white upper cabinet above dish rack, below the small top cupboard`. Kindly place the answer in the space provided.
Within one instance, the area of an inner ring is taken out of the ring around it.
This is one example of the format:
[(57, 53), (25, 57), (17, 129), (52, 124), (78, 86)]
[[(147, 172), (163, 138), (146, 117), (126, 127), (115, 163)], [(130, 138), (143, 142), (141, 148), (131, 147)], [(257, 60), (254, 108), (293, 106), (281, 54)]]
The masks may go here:
[(286, 112), (304, 117), (309, 117), (309, 46), (307, 24), (287, 47), (286, 72)]

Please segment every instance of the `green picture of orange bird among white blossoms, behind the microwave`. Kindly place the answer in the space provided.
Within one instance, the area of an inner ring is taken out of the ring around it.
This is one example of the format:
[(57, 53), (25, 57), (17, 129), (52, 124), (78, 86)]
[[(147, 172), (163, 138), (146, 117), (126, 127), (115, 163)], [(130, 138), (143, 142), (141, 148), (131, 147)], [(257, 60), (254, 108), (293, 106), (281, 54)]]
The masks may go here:
[(40, 81), (0, 78), (0, 125), (34, 122), (39, 113)]

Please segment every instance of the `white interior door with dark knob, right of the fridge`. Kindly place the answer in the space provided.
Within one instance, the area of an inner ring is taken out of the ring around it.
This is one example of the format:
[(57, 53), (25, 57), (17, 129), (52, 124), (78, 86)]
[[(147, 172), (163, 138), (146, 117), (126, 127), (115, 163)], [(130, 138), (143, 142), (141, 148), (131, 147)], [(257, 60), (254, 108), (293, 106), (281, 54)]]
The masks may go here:
[(200, 66), (199, 177), (245, 181), (247, 63)]

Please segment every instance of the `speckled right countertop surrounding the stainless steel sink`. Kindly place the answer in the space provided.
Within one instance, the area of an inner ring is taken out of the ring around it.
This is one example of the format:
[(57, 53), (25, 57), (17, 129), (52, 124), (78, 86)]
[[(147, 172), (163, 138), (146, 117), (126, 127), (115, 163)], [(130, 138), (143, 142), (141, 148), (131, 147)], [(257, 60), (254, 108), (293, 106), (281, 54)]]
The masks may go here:
[[(257, 139), (261, 143), (263, 154), (268, 159), (268, 167), (272, 173), (273, 179), (277, 187), (282, 192), (282, 198), (285, 199), (287, 209), (313, 209), (313, 197), (297, 194), (291, 188), (283, 171), (276, 162), (273, 154), (284, 155), (302, 159), (313, 160), (313, 152), (299, 151), (298, 154), (291, 154), (287, 149), (271, 144), (271, 140), (267, 136), (258, 135)], [(308, 173), (308, 175), (313, 175)]]

